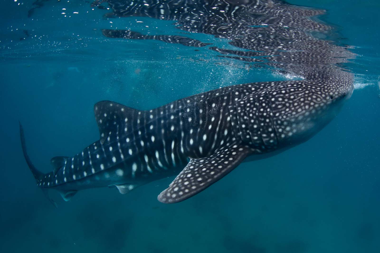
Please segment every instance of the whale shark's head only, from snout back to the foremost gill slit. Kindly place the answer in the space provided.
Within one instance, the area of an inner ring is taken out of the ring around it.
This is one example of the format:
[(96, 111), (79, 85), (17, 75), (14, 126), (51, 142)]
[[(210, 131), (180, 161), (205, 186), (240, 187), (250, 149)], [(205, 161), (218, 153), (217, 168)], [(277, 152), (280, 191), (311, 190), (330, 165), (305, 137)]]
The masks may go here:
[(352, 80), (331, 77), (268, 91), (279, 145), (306, 141), (325, 127), (351, 97)]

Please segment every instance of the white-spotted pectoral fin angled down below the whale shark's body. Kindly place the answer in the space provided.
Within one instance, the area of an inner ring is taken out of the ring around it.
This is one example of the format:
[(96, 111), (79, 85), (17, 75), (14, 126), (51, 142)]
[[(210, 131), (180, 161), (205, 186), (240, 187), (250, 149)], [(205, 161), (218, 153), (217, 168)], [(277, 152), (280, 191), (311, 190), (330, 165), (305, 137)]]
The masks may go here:
[(169, 187), (158, 195), (158, 201), (177, 203), (196, 195), (230, 173), (250, 153), (248, 146), (232, 143), (210, 156), (191, 158)]

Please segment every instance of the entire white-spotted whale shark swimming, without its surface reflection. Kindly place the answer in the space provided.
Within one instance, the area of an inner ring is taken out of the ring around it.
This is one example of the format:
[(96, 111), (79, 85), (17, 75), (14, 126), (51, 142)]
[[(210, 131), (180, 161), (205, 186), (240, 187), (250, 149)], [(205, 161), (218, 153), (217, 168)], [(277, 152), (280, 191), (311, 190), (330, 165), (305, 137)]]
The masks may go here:
[(325, 79), (228, 86), (147, 111), (101, 101), (94, 106), (100, 140), (73, 157), (52, 158), (54, 171), (43, 174), (33, 166), (20, 125), (22, 150), (37, 185), (58, 190), (64, 200), (78, 190), (109, 185), (127, 193), (180, 171), (158, 195), (163, 203), (176, 203), (247, 156), (276, 154), (306, 141), (352, 91), (351, 75), (341, 72)]

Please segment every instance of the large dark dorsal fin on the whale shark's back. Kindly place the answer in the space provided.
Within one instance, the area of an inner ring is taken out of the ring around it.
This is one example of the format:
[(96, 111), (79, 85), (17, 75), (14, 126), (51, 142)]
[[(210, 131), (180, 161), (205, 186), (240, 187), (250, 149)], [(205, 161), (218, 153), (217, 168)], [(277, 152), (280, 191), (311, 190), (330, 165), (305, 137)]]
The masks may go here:
[(100, 143), (103, 145), (107, 136), (118, 131), (131, 131), (133, 124), (139, 123), (143, 117), (142, 111), (112, 102), (100, 101), (94, 105), (94, 114), (100, 133)]

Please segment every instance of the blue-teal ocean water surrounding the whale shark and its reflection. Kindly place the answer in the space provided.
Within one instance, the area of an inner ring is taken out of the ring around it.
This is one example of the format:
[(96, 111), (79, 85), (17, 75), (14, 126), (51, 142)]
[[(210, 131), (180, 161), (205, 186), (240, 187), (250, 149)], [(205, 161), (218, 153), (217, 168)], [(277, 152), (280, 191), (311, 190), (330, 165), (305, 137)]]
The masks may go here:
[(355, 74), (352, 97), (309, 141), (242, 163), (177, 204), (157, 201), (173, 180), (166, 178), (127, 195), (85, 190), (69, 202), (52, 191), (58, 209), (35, 185), (18, 121), (33, 163), (48, 172), (51, 157), (98, 140), (92, 109), (100, 100), (144, 110), (220, 86), (299, 77), (218, 58), (208, 46), (107, 38), (100, 30), (191, 36), (233, 49), (222, 38), (184, 33), (173, 20), (111, 18), (79, 0), (33, 2), (6, 1), (0, 10), (2, 252), (378, 252), (378, 1), (289, 1), (326, 9), (319, 19), (339, 35), (329, 39), (357, 54), (344, 63)]

